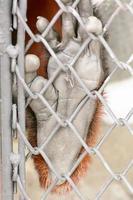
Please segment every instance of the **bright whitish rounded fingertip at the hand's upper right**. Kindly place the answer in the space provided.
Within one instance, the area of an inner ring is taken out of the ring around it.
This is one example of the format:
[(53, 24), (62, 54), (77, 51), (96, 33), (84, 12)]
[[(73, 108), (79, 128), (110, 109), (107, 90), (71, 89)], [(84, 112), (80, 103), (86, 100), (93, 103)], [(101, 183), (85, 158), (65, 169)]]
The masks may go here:
[(99, 35), (102, 33), (102, 22), (94, 16), (90, 16), (85, 24), (88, 33)]

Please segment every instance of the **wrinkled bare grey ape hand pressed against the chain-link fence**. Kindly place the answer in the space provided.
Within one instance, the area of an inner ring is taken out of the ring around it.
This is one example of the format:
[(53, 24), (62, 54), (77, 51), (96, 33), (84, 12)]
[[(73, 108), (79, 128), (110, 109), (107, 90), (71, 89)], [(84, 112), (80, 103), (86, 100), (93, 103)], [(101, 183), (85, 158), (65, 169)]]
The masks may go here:
[[(85, 99), (88, 91), (98, 89), (104, 78), (100, 44), (89, 37), (89, 33), (100, 34), (102, 24), (92, 16), (89, 1), (81, 0), (78, 9), (85, 30), (81, 25), (75, 28), (72, 15), (65, 13), (62, 18), (62, 42), (58, 44), (53, 30), (46, 38), (49, 44), (52, 44), (51, 47), (56, 48), (58, 59), (57, 61), (55, 57), (50, 57), (47, 68), (48, 79), (36, 76), (38, 58), (33, 56), (33, 64), (32, 55), (26, 57), (27, 82), (31, 91), (38, 95), (38, 99), (30, 102), (37, 119), (38, 146), (41, 148), (48, 136), (53, 134), (47, 145), (42, 148), (55, 170), (52, 171), (50, 167), (48, 169), (51, 182), (55, 179), (55, 172), (59, 176), (67, 174), (78, 159), (82, 144), (76, 134), (78, 133), (86, 141), (96, 111), (96, 100), (91, 97)], [(46, 21), (44, 18), (38, 19), (37, 27), (40, 32), (45, 29)], [(56, 43), (51, 42), (50, 39)], [(89, 41), (88, 45), (79, 54), (86, 40)], [(43, 88), (51, 79), (53, 79), (52, 83), (43, 93)], [(63, 181), (59, 180), (58, 185), (62, 183)]]

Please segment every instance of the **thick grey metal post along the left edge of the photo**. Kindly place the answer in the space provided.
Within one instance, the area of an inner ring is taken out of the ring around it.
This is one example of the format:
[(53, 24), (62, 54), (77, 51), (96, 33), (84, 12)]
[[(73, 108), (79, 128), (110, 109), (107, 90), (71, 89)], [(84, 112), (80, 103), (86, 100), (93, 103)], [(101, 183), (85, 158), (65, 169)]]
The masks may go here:
[(2, 162), (2, 200), (13, 199), (11, 180), (10, 153), (12, 150), (11, 137), (11, 73), (10, 59), (6, 53), (7, 46), (11, 43), (11, 2), (0, 0), (0, 91), (1, 91), (1, 162)]

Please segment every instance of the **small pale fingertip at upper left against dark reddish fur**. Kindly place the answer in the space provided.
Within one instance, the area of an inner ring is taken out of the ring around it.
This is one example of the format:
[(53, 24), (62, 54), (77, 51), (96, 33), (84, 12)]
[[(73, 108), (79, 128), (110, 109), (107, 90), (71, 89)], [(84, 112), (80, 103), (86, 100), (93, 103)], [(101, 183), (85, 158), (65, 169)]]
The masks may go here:
[(46, 29), (46, 27), (48, 26), (49, 24), (49, 21), (44, 18), (44, 17), (37, 17), (37, 22), (36, 22), (36, 27), (37, 27), (37, 30), (40, 32), (40, 33), (43, 33), (43, 31)]

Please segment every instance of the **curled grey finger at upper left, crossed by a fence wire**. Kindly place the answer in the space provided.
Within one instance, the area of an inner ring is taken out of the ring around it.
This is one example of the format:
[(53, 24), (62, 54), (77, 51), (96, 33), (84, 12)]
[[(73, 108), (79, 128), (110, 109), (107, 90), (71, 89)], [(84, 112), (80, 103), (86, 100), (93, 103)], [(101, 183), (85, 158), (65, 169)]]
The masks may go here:
[[(37, 30), (42, 34), (45, 29), (47, 28), (49, 21), (44, 17), (38, 17), (36, 22)], [(59, 35), (57, 32), (54, 31), (53, 28), (48, 32), (46, 35), (46, 40), (49, 42), (50, 46), (54, 49), (57, 47), (59, 41)]]

